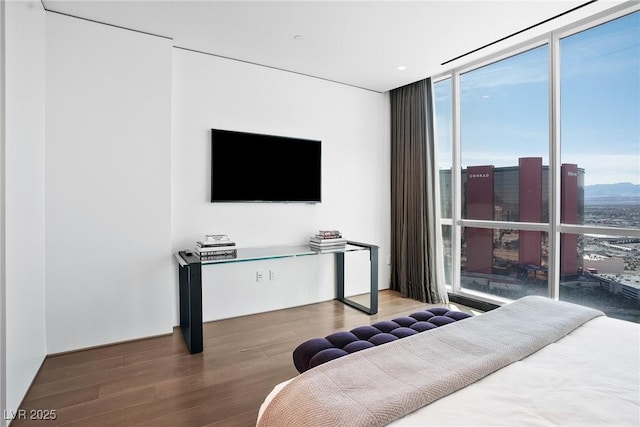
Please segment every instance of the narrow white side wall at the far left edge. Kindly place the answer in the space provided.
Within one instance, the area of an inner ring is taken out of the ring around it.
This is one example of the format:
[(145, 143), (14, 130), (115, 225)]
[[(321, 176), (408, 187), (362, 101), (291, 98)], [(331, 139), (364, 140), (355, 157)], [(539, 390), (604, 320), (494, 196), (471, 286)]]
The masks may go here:
[[(45, 355), (45, 12), (5, 4), (6, 409), (15, 411)], [(3, 414), (4, 415), (4, 414)]]

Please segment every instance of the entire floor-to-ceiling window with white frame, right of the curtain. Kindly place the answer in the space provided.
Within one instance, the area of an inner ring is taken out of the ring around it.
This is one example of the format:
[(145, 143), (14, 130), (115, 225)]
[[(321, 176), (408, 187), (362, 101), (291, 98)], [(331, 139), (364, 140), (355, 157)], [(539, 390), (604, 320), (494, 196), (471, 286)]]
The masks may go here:
[(434, 79), (450, 291), (640, 322), (640, 11)]

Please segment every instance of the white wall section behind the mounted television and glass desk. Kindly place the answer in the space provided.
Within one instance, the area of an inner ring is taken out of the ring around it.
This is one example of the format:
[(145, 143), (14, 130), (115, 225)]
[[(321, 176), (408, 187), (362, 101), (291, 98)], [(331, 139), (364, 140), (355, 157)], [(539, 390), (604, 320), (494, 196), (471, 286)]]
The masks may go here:
[[(388, 94), (181, 49), (173, 60), (173, 250), (209, 233), (267, 246), (339, 229), (381, 247), (379, 282), (388, 287)], [(322, 203), (210, 203), (212, 128), (321, 140)], [(333, 298), (333, 257), (315, 258), (204, 267), (205, 320)], [(366, 291), (368, 258), (361, 265), (356, 285)], [(278, 279), (256, 283), (255, 272), (270, 268)]]

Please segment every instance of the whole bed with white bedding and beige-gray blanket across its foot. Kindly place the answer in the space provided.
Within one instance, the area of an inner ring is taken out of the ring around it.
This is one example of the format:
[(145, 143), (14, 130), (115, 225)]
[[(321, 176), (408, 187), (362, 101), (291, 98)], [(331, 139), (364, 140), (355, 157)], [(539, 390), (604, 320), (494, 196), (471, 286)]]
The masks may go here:
[(640, 325), (525, 297), (277, 385), (264, 426), (638, 426)]

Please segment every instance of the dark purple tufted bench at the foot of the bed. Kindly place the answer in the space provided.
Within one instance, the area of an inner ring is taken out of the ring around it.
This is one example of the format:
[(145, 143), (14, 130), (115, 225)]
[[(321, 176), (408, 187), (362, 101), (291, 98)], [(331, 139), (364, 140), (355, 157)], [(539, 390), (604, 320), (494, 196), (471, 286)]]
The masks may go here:
[(324, 338), (313, 338), (303, 342), (293, 351), (293, 364), (298, 372), (303, 373), (349, 353), (415, 335), (467, 317), (471, 315), (444, 307), (432, 307), (409, 316), (359, 326), (348, 332), (341, 331)]

